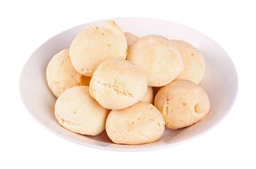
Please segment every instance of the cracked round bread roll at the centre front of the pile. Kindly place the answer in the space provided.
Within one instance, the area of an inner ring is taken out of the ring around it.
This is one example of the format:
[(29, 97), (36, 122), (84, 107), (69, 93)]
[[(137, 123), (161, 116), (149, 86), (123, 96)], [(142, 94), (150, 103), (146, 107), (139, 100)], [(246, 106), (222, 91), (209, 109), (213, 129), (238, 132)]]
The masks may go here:
[(120, 58), (102, 62), (90, 82), (91, 96), (106, 109), (125, 109), (142, 99), (146, 90), (143, 71)]

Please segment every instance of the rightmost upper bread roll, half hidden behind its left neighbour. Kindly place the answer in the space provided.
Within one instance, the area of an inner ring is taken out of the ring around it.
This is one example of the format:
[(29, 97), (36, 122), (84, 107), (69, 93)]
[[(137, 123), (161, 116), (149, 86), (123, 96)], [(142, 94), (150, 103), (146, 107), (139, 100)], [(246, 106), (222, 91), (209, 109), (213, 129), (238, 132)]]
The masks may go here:
[(184, 79), (199, 84), (205, 74), (204, 56), (192, 44), (179, 40), (170, 41), (179, 51), (184, 68), (176, 79)]

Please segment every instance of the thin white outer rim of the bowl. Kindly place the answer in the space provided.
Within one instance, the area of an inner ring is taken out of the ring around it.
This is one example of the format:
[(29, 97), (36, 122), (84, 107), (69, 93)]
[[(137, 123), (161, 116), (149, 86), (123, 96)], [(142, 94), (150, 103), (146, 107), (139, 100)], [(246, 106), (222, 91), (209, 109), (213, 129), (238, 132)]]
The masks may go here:
[[(164, 22), (170, 22), (172, 24), (176, 24), (176, 25), (179, 25), (179, 26), (182, 26), (182, 27), (185, 27), (185, 28), (189, 28), (189, 29), (192, 29), (193, 31), (196, 31), (200, 34), (203, 34), (204, 36), (206, 36), (208, 39), (210, 39), (211, 41), (215, 42), (214, 40), (212, 40), (211, 38), (209, 38), (207, 35), (205, 35), (204, 33), (201, 33), (193, 28), (190, 28), (190, 27), (187, 27), (185, 25), (182, 25), (182, 24), (179, 24), (179, 23), (175, 23), (175, 22), (171, 22), (171, 21), (168, 21), (168, 20), (163, 20), (163, 19), (156, 19), (156, 18), (147, 18), (147, 17), (117, 17), (117, 18), (108, 18), (108, 19), (100, 19), (100, 20), (96, 20), (96, 21), (91, 21), (91, 22), (87, 22), (87, 23), (84, 23), (84, 24), (90, 24), (90, 23), (93, 23), (93, 22), (99, 22), (99, 21), (105, 21), (105, 20), (115, 20), (115, 19), (153, 19), (153, 20), (159, 20), (159, 21), (164, 21)], [(236, 67), (234, 65), (234, 62), (232, 61), (232, 59), (230, 58), (230, 56), (227, 54), (227, 52), (219, 45), (219, 43), (215, 42), (218, 47), (220, 47), (224, 52), (225, 54), (228, 56), (229, 60), (231, 61), (230, 63), (232, 64), (233, 68), (234, 68), (234, 75), (235, 75), (235, 85), (236, 85), (236, 88), (235, 88), (235, 93), (234, 93), (234, 98), (228, 108), (228, 110), (225, 112), (225, 114), (212, 126), (208, 127), (208, 129), (206, 129), (205, 131), (201, 132), (201, 133), (198, 133), (198, 134), (195, 134), (193, 135), (192, 137), (188, 138), (188, 139), (185, 139), (185, 140), (182, 140), (182, 141), (178, 141), (176, 143), (172, 143), (172, 144), (165, 144), (165, 145), (162, 145), (162, 146), (156, 146), (156, 147), (147, 147), (147, 148), (113, 148), (113, 147), (104, 147), (104, 146), (100, 146), (100, 145), (94, 145), (94, 144), (90, 144), (90, 143), (86, 143), (86, 142), (80, 142), (80, 141), (76, 141), (76, 140), (73, 140), (73, 139), (70, 139), (68, 137), (65, 137), (64, 135), (62, 134), (59, 134), (57, 132), (55, 132), (54, 130), (51, 130), (50, 128), (48, 128), (47, 126), (41, 124), (36, 118), (35, 116), (29, 111), (28, 107), (26, 106), (25, 104), (25, 101), (23, 99), (23, 95), (22, 95), (22, 92), (21, 92), (21, 85), (22, 85), (22, 76), (24, 74), (24, 68), (26, 67), (26, 65), (28, 64), (31, 56), (34, 55), (34, 53), (37, 51), (38, 48), (40, 48), (41, 46), (43, 46), (45, 43), (47, 43), (49, 40), (51, 40), (52, 38), (64, 33), (65, 31), (69, 30), (69, 29), (73, 29), (73, 28), (76, 28), (76, 27), (80, 27), (84, 24), (80, 24), (80, 25), (77, 25), (77, 26), (74, 26), (72, 28), (68, 28), (68, 29), (65, 29), (64, 31), (54, 35), (53, 37), (49, 38), (47, 41), (43, 42), (40, 46), (38, 46), (33, 52), (32, 54), (27, 58), (25, 64), (23, 65), (21, 71), (20, 71), (20, 75), (19, 75), (19, 79), (18, 79), (18, 90), (19, 90), (19, 96), (20, 96), (20, 99), (21, 99), (21, 102), (23, 104), (23, 106), (25, 107), (26, 109), (26, 112), (30, 114), (30, 116), (42, 127), (44, 127), (45, 129), (47, 129), (48, 131), (50, 131), (51, 133), (59, 136), (60, 138), (63, 138), (67, 141), (71, 141), (71, 142), (74, 142), (74, 143), (77, 143), (77, 144), (80, 144), (80, 145), (83, 145), (83, 146), (87, 146), (87, 147), (91, 147), (91, 148), (96, 148), (96, 149), (100, 149), (100, 150), (108, 150), (108, 151), (116, 151), (116, 152), (141, 152), (141, 151), (152, 151), (152, 150), (158, 150), (158, 149), (163, 149), (163, 148), (168, 148), (168, 147), (173, 147), (173, 146), (176, 146), (176, 145), (179, 145), (179, 144), (182, 144), (182, 143), (185, 143), (185, 142), (188, 142), (188, 141), (192, 141), (193, 139), (197, 138), (197, 137), (200, 137), (202, 135), (204, 135), (205, 133), (207, 133), (208, 131), (212, 130), (214, 127), (216, 127), (217, 125), (219, 125), (223, 120), (224, 118), (227, 116), (227, 114), (229, 114), (229, 112), (231, 111), (231, 109), (233, 108), (233, 105), (237, 99), (237, 95), (238, 95), (238, 89), (239, 89), (239, 78), (238, 78), (238, 73), (237, 73), (237, 70), (236, 70)], [(122, 145), (122, 144), (121, 144)]]

